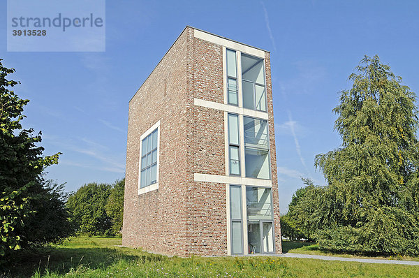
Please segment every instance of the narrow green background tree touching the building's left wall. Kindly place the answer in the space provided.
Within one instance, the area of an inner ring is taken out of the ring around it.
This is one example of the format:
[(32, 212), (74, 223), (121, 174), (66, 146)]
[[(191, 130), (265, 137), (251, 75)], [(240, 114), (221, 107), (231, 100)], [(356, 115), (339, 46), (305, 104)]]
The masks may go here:
[(122, 229), (122, 219), (124, 218), (124, 188), (125, 179), (113, 184), (110, 195), (105, 205), (106, 214), (112, 219), (112, 232), (119, 235)]

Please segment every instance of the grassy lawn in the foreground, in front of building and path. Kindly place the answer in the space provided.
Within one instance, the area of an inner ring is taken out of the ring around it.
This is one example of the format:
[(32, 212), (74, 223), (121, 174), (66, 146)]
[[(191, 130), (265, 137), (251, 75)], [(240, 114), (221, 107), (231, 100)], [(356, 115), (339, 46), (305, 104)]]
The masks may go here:
[(419, 277), (419, 267), (409, 265), (273, 256), (169, 258), (119, 244), (116, 237), (73, 237), (38, 254), (21, 254), (6, 277)]

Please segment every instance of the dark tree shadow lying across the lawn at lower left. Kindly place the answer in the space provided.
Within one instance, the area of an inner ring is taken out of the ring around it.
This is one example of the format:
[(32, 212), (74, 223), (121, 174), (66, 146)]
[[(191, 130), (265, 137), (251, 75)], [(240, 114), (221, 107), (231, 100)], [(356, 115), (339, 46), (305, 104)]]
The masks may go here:
[[(124, 254), (114, 248), (45, 248), (42, 251), (24, 251), (13, 258), (13, 266), (6, 271), (5, 277), (31, 277), (36, 272), (41, 275), (46, 270), (60, 275), (84, 265), (89, 269), (105, 269), (117, 261), (162, 261), (164, 256), (153, 254)], [(1, 274), (0, 274), (0, 277)]]

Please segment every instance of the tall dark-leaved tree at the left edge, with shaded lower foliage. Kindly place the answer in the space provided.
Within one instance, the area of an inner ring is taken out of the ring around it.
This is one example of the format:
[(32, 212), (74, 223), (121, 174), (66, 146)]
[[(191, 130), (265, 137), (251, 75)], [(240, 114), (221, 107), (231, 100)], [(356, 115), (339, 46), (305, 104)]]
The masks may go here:
[[(45, 167), (58, 163), (58, 154), (42, 156), (41, 132), (34, 135), (34, 129), (22, 129), (21, 120), (24, 105), (29, 100), (19, 98), (11, 90), (18, 82), (8, 80), (14, 73), (6, 68), (0, 59), (0, 263), (10, 251), (27, 247), (30, 244), (53, 242), (68, 235), (62, 227), (37, 226), (36, 234), (30, 224), (63, 224), (67, 220), (62, 191), (54, 191), (54, 186), (45, 185), (42, 174)], [(56, 188), (57, 189), (57, 188)], [(55, 202), (57, 201), (57, 202)], [(54, 203), (55, 202), (55, 203)], [(43, 207), (57, 209), (57, 214), (43, 214)], [(52, 217), (52, 218), (51, 218)], [(40, 222), (41, 221), (41, 222)], [(54, 231), (45, 237), (43, 228)]]

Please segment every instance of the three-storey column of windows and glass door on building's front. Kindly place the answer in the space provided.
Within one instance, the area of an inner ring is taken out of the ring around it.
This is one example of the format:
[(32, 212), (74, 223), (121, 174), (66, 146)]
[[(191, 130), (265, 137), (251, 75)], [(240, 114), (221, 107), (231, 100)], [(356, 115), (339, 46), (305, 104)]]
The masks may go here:
[[(238, 64), (237, 58), (240, 61)], [(264, 59), (227, 49), (226, 75), (228, 104), (267, 112)], [(245, 116), (249, 115), (248, 112), (243, 113), (228, 113), (226, 119), (229, 174), (270, 180), (267, 120)], [(231, 254), (273, 253), (272, 189), (235, 184), (229, 186)]]

